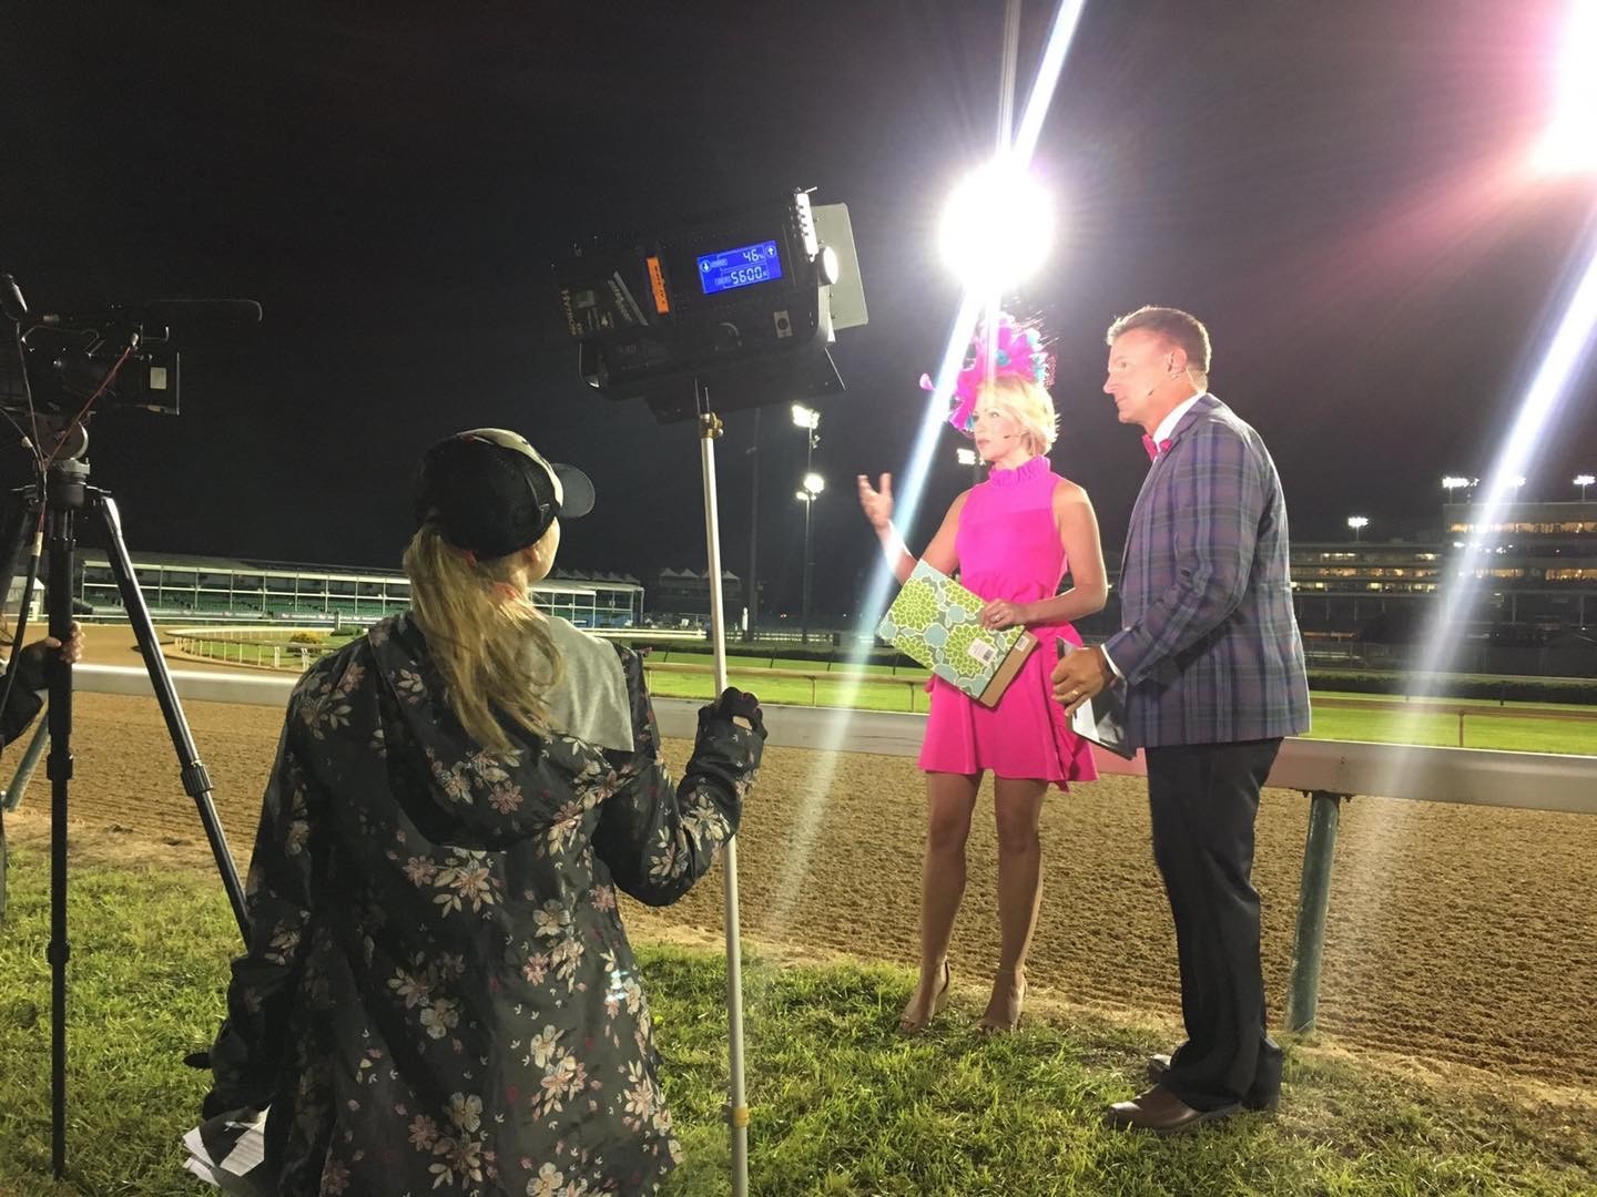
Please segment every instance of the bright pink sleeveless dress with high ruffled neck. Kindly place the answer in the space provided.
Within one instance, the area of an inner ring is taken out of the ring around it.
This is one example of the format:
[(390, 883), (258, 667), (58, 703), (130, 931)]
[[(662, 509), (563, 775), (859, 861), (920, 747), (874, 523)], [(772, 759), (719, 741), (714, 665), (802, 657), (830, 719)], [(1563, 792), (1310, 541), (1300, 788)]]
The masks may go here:
[[(1054, 522), (1054, 487), (1064, 479), (1036, 456), (1019, 469), (995, 469), (971, 487), (960, 511), (955, 552), (960, 581), (982, 598), (1035, 603), (1052, 598), (1065, 576), (1065, 551)], [(1088, 782), (1097, 777), (1092, 745), (1070, 731), (1052, 699), (1049, 674), (1059, 637), (1081, 637), (1068, 622), (1028, 624), (1038, 646), (997, 707), (984, 707), (942, 678), (931, 680), (931, 715), (920, 749), (928, 772), (981, 772)]]

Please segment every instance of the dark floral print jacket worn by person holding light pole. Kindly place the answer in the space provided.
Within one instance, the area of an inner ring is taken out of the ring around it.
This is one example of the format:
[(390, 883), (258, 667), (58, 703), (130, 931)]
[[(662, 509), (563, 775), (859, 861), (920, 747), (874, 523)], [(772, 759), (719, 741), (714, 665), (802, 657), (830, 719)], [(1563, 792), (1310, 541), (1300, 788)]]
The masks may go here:
[(407, 614), (295, 688), (206, 1098), (270, 1104), (284, 1197), (653, 1192), (676, 1163), (616, 887), (666, 905), (704, 875), (765, 731), (706, 707), (674, 784), (616, 651), (631, 753), (482, 750)]

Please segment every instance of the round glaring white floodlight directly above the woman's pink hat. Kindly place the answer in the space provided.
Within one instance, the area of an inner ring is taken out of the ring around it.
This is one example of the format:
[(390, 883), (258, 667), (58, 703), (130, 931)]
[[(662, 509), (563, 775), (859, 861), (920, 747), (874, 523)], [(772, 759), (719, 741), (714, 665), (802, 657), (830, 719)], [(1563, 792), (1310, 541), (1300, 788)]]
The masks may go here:
[(939, 244), (958, 279), (997, 295), (1048, 259), (1054, 212), (1036, 176), (1012, 153), (966, 176), (942, 211)]

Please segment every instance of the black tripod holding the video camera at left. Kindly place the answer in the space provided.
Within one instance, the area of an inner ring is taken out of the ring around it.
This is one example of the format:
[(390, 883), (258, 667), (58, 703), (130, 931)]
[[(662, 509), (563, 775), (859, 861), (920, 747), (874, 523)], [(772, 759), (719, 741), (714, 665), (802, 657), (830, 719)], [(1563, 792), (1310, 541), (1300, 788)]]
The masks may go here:
[[(62, 642), (72, 632), (72, 578), (73, 554), (77, 549), (77, 516), (80, 511), (99, 514), (105, 530), (107, 559), (117, 589), (121, 592), (121, 605), (133, 622), (139, 651), (144, 654), (144, 666), (150, 674), (150, 688), (161, 704), (161, 715), (166, 720), (166, 731), (171, 733), (172, 747), (182, 771), (184, 790), (193, 798), (200, 811), (200, 822), (204, 825), (206, 839), (216, 857), (216, 867), (222, 875), (222, 886), (233, 907), (233, 918), (238, 919), (240, 932), (248, 938), (249, 921), (244, 913), (244, 887), (238, 879), (238, 870), (227, 849), (227, 838), (222, 835), (222, 824), (211, 801), (211, 777), (204, 764), (200, 763), (193, 736), (177, 702), (177, 691), (172, 688), (166, 659), (161, 656), (155, 638), (155, 626), (150, 621), (150, 610), (145, 606), (139, 581), (133, 573), (133, 562), (128, 559), (128, 546), (121, 538), (121, 517), (117, 512), (115, 500), (104, 490), (88, 485), (88, 463), (78, 458), (61, 458), (50, 463), (43, 487), (30, 485), (16, 492), (21, 506), (21, 517), (14, 519), (14, 543), (6, 557), (5, 570), (18, 560), (22, 538), (30, 528), (38, 528), (40, 512), (45, 520), (45, 552), (50, 560), (50, 583), (46, 587), (46, 610), (50, 613), (50, 634)], [(43, 493), (40, 493), (43, 490)], [(32, 581), (32, 571), (30, 571)], [(11, 579), (5, 578), (0, 594), (11, 587)], [(22, 630), (27, 621), (27, 603), (30, 595), (22, 595), (22, 606), (18, 613), (18, 645), (22, 642)], [(50, 776), (50, 969), (51, 969), (51, 1015), (50, 1015), (50, 1049), (51, 1049), (51, 1160), (56, 1178), (65, 1173), (67, 1144), (67, 958), (70, 946), (67, 942), (67, 785), (72, 780), (72, 666), (62, 656), (53, 656), (46, 666), (50, 683), (50, 758), (46, 772)]]

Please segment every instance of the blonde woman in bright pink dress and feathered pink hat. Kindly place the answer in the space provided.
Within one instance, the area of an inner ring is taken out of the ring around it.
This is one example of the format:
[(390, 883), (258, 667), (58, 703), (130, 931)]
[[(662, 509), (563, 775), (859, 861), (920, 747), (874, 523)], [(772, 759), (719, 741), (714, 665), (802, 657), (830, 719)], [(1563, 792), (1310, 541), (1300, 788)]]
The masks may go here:
[[(992, 358), (989, 365), (987, 358)], [(920, 750), (929, 800), (921, 873), (920, 985), (899, 1020), (915, 1034), (949, 996), (949, 940), (965, 894), (965, 841), (982, 774), (992, 769), (998, 824), (998, 972), (984, 1031), (1011, 1031), (1025, 998), (1025, 953), (1041, 899), (1038, 822), (1049, 785), (1092, 780), (1091, 745), (1075, 736), (1049, 693), (1057, 640), (1081, 637), (1072, 619), (1104, 606), (1104, 551), (1086, 492), (1052, 472), (1048, 450), (1059, 423), (1046, 391), (1049, 362), (1035, 330), (1008, 318), (960, 375), (950, 423), (976, 440), (985, 482), (961, 493), (926, 546), (925, 560), (987, 600), (989, 627), (1024, 624), (1040, 645), (993, 709), (933, 678)], [(923, 380), (925, 383), (925, 380)], [(893, 480), (859, 476), (859, 504), (902, 583), (915, 557), (893, 528)], [(1072, 587), (1059, 594), (1065, 573)]]

